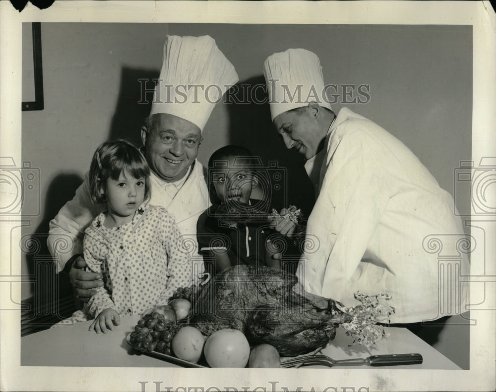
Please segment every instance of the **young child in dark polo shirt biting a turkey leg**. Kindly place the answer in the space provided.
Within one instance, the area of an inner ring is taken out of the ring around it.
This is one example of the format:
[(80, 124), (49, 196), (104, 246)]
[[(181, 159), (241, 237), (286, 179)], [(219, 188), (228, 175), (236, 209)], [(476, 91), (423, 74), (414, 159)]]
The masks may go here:
[(225, 146), (208, 161), (208, 181), (213, 205), (198, 218), (197, 238), (201, 253), (211, 254), (219, 273), (237, 264), (281, 268), (276, 255), (284, 241), (269, 228), (268, 213), (261, 200), (251, 199), (259, 178), (251, 152), (239, 146)]

